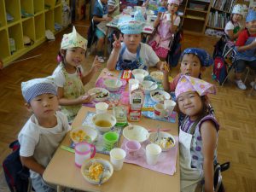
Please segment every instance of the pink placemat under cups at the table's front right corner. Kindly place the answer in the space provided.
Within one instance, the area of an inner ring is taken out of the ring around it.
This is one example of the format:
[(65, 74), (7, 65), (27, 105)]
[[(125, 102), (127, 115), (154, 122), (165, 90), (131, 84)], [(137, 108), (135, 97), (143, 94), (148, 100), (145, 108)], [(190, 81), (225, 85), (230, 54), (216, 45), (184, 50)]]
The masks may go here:
[[(173, 148), (168, 151), (162, 152), (160, 154), (160, 159), (154, 166), (149, 166), (146, 161), (145, 148), (149, 141), (146, 141), (142, 144), (141, 151), (136, 160), (128, 160), (125, 158), (125, 163), (136, 164), (137, 166), (143, 166), (144, 168), (153, 170), (155, 172), (161, 172), (167, 175), (173, 175), (176, 172), (176, 160), (177, 160), (177, 148), (178, 148), (178, 137), (174, 136), (176, 144)], [(127, 142), (124, 139), (121, 148), (125, 149), (125, 143)]]

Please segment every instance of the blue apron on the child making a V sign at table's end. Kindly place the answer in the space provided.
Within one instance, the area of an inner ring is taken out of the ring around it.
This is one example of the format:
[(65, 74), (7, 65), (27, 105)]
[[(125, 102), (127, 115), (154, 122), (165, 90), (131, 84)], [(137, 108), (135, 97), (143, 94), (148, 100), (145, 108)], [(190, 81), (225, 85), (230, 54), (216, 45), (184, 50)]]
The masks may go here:
[(141, 68), (144, 70), (147, 70), (148, 67), (143, 64), (143, 61), (140, 59), (140, 50), (141, 50), (141, 44), (137, 47), (137, 58), (135, 61), (127, 61), (123, 60), (123, 54), (125, 52), (126, 46), (125, 44), (122, 45), (120, 54), (119, 54), (119, 61), (116, 64), (116, 70), (133, 70), (137, 68)]

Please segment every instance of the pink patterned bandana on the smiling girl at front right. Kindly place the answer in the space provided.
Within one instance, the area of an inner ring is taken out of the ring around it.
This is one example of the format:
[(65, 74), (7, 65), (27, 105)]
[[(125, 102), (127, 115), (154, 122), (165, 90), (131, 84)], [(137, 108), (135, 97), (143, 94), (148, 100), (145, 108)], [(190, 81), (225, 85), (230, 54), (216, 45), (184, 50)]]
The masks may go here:
[(180, 96), (180, 94), (195, 91), (199, 96), (205, 96), (207, 94), (215, 94), (216, 87), (213, 84), (209, 84), (206, 81), (201, 79), (192, 78), (187, 75), (183, 75), (177, 82), (177, 87), (175, 89), (176, 98)]

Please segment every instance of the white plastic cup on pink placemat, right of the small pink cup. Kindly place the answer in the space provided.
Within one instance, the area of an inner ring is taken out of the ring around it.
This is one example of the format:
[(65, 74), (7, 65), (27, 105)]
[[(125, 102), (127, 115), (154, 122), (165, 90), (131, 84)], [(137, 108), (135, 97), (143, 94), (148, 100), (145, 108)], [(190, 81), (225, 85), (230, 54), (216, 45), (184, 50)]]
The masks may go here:
[(159, 145), (151, 143), (146, 146), (146, 159), (149, 166), (154, 166), (159, 160), (162, 149)]

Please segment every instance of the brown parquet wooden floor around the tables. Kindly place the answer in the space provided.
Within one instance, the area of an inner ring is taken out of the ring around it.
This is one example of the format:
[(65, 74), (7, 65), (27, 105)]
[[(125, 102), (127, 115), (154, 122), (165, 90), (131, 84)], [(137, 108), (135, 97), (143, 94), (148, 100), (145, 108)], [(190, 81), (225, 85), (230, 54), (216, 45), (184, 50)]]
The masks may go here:
[[(77, 26), (85, 36), (87, 28)], [(70, 32), (71, 27), (64, 32)], [(8, 145), (14, 141), (22, 125), (30, 117), (24, 107), (20, 92), (20, 83), (28, 79), (45, 77), (55, 69), (56, 55), (60, 48), (62, 33), (55, 41), (47, 42), (33, 49), (20, 59), (39, 55), (30, 60), (16, 62), (0, 71), (0, 161), (9, 154)], [(212, 54), (215, 38), (185, 35), (183, 49), (200, 47)], [(89, 68), (93, 56), (87, 58), (85, 68)], [(106, 67), (106, 64), (102, 64)], [(178, 67), (172, 70), (172, 76)], [(216, 84), (211, 79), (212, 67), (203, 74), (203, 79)], [(86, 85), (94, 86), (97, 75)], [(233, 75), (231, 75), (233, 79)], [(252, 79), (252, 77), (250, 77)], [(247, 86), (249, 87), (247, 81)], [(217, 84), (218, 85), (218, 84)], [(254, 91), (256, 92), (256, 91)], [(220, 163), (231, 162), (230, 170), (223, 173), (227, 192), (256, 191), (256, 96), (247, 96), (248, 90), (236, 88), (230, 80), (223, 87), (218, 86), (217, 96), (211, 96), (218, 122), (221, 125), (218, 137), (218, 160)], [(3, 179), (3, 168), (0, 168), (0, 191), (9, 191)], [(158, 192), (158, 191), (154, 191)]]

